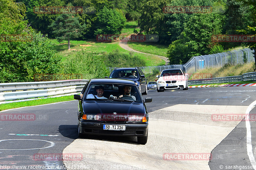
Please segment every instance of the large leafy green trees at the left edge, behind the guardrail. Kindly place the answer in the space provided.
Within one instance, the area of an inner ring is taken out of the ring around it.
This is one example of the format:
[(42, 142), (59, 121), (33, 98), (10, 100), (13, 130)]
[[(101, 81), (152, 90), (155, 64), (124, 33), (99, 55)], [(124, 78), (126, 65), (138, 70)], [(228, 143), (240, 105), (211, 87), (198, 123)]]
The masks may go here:
[(28, 22), (23, 20), (23, 5), (12, 0), (0, 0), (0, 4), (2, 3), (4, 5), (0, 5), (0, 34), (9, 38), (18, 34), (20, 38), (17, 41), (0, 41), (0, 82), (33, 81), (35, 74), (57, 73), (60, 57), (52, 50), (47, 37), (27, 26)]

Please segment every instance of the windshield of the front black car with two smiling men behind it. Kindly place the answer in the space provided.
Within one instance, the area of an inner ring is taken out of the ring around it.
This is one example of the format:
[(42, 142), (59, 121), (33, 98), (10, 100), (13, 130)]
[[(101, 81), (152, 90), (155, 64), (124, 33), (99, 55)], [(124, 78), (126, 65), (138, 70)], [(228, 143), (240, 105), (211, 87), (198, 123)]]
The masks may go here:
[(115, 100), (142, 102), (135, 85), (91, 84), (86, 91), (86, 100)]

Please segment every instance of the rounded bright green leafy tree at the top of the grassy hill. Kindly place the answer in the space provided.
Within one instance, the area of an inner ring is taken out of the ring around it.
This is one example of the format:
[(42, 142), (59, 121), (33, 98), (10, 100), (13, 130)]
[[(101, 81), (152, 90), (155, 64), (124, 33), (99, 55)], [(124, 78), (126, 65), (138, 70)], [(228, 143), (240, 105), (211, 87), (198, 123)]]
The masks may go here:
[(94, 22), (94, 35), (120, 34), (125, 21), (125, 17), (120, 12), (104, 7), (98, 12)]

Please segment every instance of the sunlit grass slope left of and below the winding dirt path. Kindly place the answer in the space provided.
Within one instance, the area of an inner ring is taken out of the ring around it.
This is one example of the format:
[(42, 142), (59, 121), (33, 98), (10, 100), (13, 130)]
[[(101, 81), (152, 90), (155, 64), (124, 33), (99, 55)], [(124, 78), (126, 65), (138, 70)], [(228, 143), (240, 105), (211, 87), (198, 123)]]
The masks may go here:
[[(59, 43), (56, 39), (51, 39), (53, 49), (57, 50), (57, 54), (61, 57), (61, 61), (65, 63), (67, 58), (74, 57), (76, 55), (76, 52), (79, 50), (86, 50), (91, 51), (94, 53), (110, 53), (116, 49), (118, 49), (120, 52), (129, 54), (129, 51), (121, 48), (119, 46), (119, 42), (97, 42), (97, 41), (70, 41), (71, 50), (68, 50), (68, 42), (64, 41), (63, 43)], [(148, 55), (148, 54), (140, 54), (140, 53), (134, 53), (134, 55), (138, 56), (139, 58), (145, 60), (146, 65), (145, 66), (153, 66), (153, 65), (164, 65), (164, 60), (158, 58), (154, 55)]]

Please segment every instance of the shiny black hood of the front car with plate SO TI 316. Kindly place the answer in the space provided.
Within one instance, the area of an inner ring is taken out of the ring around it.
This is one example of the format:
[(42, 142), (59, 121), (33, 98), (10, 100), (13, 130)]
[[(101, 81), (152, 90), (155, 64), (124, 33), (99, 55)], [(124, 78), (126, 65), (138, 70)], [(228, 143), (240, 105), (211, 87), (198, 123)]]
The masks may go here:
[(85, 114), (106, 114), (113, 115), (144, 115), (143, 103), (120, 102), (120, 101), (102, 101), (102, 100), (85, 100)]

